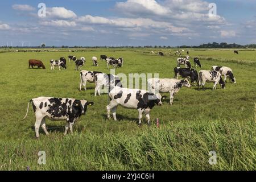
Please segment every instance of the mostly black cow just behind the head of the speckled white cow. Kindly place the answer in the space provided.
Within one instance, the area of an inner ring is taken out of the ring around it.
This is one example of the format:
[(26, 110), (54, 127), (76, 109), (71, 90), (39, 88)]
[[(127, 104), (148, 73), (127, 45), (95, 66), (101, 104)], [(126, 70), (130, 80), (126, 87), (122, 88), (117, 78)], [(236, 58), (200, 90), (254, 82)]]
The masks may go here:
[(174, 68), (174, 78), (179, 78), (179, 76), (183, 78), (190, 78), (191, 83), (194, 85), (198, 80), (198, 73), (195, 69), (192, 68)]

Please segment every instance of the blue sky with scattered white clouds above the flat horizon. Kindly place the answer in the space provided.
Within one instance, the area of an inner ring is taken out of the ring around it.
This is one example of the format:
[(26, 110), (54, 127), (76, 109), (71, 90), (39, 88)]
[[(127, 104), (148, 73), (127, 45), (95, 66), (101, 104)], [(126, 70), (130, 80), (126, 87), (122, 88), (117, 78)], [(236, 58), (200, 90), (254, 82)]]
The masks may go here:
[(256, 44), (255, 0), (9, 0), (0, 6), (0, 46)]

